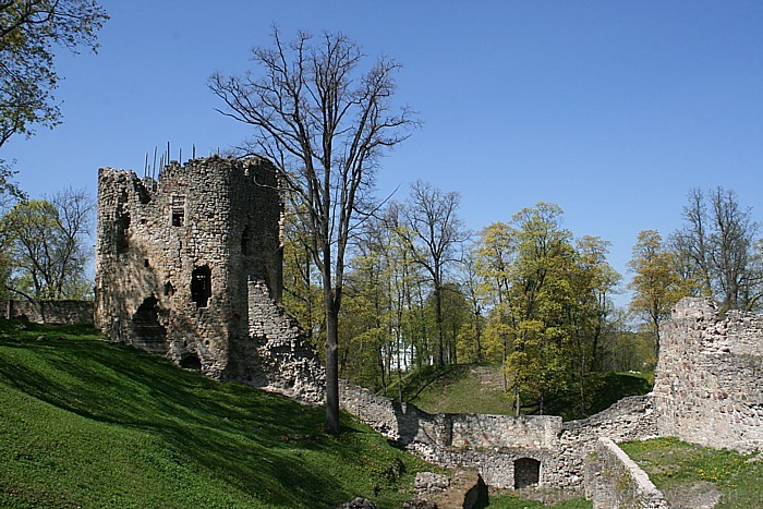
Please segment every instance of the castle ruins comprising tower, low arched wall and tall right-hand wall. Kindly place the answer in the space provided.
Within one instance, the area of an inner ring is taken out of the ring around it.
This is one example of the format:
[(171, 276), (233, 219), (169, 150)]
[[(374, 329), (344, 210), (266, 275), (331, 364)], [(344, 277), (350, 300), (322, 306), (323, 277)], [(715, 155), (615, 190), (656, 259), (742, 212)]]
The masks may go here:
[[(180, 366), (319, 403), (324, 372), (278, 304), (281, 202), (264, 159), (172, 162), (158, 179), (98, 174), (96, 324)], [(499, 487), (582, 487), (600, 438), (763, 448), (763, 316), (685, 299), (665, 325), (655, 386), (581, 421), (428, 414), (343, 384), (344, 410), (423, 458)]]

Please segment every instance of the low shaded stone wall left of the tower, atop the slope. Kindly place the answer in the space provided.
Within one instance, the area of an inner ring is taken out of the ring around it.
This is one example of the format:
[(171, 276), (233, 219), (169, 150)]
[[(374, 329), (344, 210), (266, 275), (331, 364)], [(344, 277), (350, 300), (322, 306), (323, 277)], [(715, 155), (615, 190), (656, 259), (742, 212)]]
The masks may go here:
[(5, 319), (25, 319), (33, 324), (93, 324), (93, 301), (16, 301), (2, 303)]

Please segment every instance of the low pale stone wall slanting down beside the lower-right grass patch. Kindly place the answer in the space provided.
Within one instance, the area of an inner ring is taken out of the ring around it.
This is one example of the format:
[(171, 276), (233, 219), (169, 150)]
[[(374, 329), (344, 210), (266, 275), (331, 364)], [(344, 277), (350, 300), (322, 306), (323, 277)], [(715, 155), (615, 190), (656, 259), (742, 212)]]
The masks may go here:
[(667, 509), (664, 495), (622, 449), (600, 438), (586, 471), (585, 496), (594, 508)]

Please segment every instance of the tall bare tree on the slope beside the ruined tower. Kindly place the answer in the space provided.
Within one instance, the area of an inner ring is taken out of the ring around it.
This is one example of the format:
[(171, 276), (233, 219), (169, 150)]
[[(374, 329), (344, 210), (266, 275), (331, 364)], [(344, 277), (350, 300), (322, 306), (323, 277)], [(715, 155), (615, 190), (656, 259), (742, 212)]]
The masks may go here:
[(410, 135), (415, 119), (391, 105), (399, 65), (379, 58), (361, 73), (365, 56), (343, 34), (313, 39), (300, 32), (284, 44), (274, 29), (272, 43), (253, 49), (257, 73), (215, 73), (209, 87), (226, 104), (222, 114), (254, 128), (245, 148), (275, 162), (308, 234), (326, 314), (326, 426), (338, 434), (337, 325), (348, 239), (379, 156)]

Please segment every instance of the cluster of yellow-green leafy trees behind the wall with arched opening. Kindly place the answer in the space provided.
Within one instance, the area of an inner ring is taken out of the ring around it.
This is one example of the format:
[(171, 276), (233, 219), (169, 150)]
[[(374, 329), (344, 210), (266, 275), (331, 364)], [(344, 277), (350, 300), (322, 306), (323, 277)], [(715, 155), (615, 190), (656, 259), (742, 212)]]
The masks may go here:
[(481, 293), (491, 306), (487, 359), (505, 365), (517, 413), (574, 390), (590, 405), (589, 373), (601, 368), (619, 275), (606, 262), (608, 243), (573, 241), (562, 211), (538, 203), (510, 223), (485, 228), (476, 245)]

